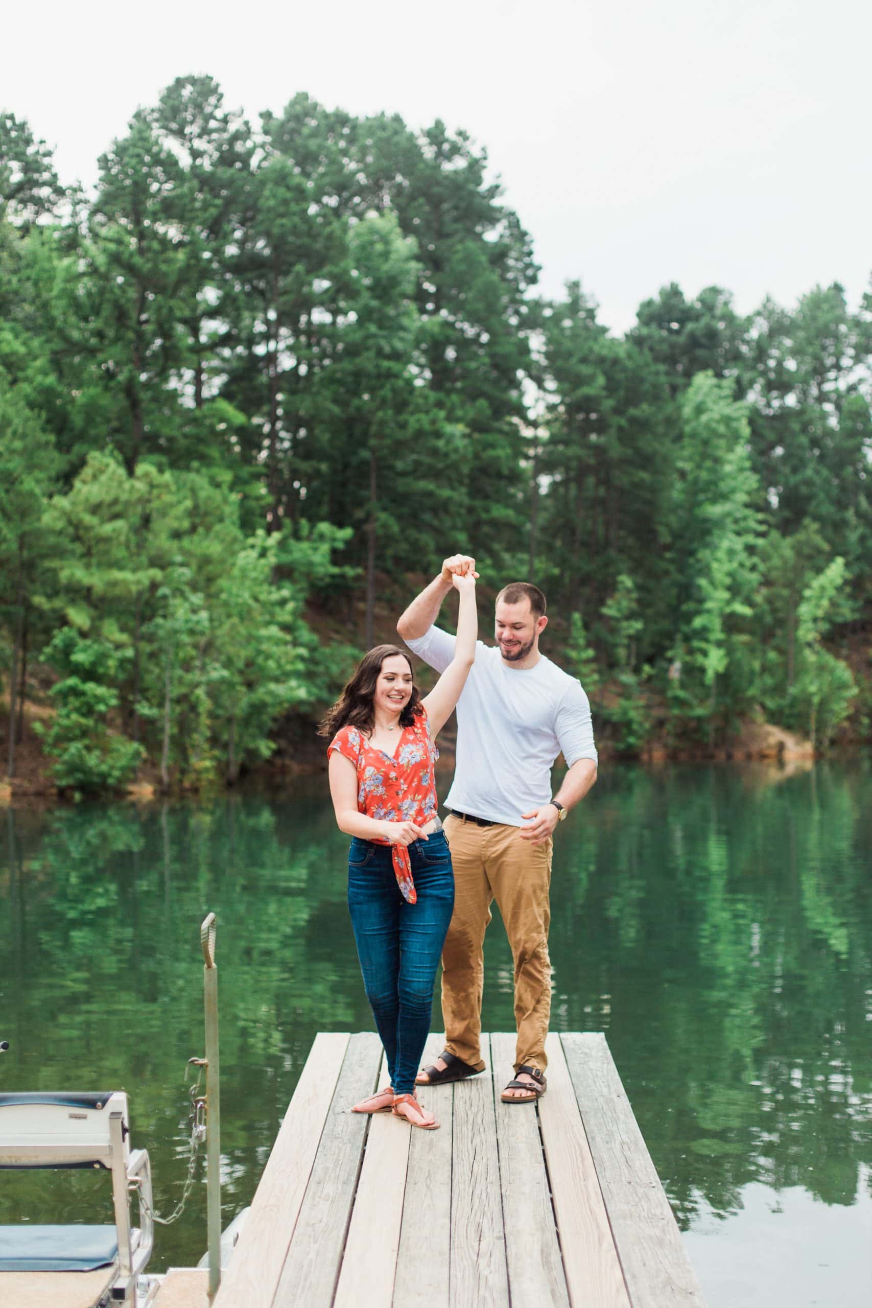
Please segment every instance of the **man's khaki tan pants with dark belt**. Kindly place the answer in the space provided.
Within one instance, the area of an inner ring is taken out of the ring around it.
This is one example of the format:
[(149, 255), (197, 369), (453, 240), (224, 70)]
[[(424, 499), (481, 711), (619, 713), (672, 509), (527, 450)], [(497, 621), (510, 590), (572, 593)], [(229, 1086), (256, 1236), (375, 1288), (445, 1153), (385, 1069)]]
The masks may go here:
[(484, 939), (497, 900), (515, 963), (515, 1070), (545, 1071), (550, 1016), (548, 889), (552, 841), (532, 845), (518, 827), (478, 827), (450, 816), (444, 833), (454, 865), (454, 916), (442, 948), (442, 1015), (446, 1046), (464, 1062), (481, 1062)]

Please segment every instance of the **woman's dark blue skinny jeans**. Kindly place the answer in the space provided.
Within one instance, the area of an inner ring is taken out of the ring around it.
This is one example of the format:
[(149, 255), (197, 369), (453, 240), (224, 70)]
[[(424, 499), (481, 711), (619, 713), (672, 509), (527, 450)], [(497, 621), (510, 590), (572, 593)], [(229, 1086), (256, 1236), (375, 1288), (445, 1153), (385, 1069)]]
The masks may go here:
[(454, 870), (444, 832), (409, 845), (417, 904), (403, 899), (391, 850), (352, 840), (348, 910), (363, 988), (397, 1095), (414, 1091), (430, 1032), (433, 984), (454, 909)]

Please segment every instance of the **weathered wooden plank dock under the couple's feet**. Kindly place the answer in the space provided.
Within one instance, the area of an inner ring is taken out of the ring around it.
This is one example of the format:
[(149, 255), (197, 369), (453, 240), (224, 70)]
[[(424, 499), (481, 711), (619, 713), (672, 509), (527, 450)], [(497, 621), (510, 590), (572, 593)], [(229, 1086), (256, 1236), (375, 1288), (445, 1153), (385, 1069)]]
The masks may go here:
[(318, 1035), (216, 1308), (702, 1308), (605, 1037), (550, 1035), (535, 1107), (499, 1100), (514, 1048), (421, 1087), (422, 1131), (349, 1112), (375, 1035)]

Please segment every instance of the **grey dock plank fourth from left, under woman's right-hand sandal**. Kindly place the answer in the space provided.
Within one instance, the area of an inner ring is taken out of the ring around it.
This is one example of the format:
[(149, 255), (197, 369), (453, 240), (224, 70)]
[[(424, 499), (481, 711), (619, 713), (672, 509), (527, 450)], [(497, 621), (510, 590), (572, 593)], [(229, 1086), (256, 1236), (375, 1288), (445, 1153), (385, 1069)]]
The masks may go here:
[[(422, 1063), (431, 1063), (443, 1048), (444, 1036), (431, 1035)], [(454, 1086), (420, 1086), (417, 1093), (442, 1125), (438, 1131), (412, 1131), (409, 1141), (394, 1308), (448, 1308)]]

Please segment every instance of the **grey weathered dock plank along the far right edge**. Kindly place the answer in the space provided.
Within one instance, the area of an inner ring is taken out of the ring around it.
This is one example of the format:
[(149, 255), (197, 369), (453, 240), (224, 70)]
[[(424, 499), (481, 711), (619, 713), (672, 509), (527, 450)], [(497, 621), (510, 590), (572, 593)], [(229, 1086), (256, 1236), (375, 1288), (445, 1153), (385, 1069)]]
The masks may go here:
[(702, 1308), (699, 1282), (605, 1036), (560, 1039), (633, 1308)]

